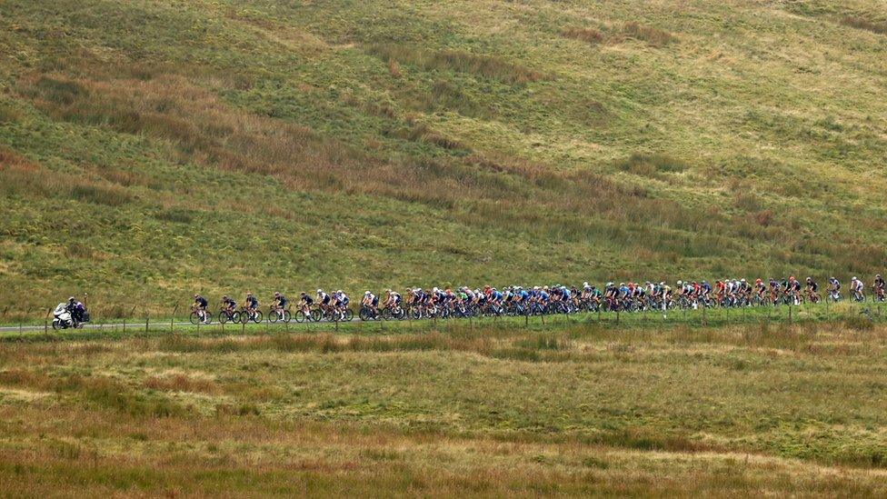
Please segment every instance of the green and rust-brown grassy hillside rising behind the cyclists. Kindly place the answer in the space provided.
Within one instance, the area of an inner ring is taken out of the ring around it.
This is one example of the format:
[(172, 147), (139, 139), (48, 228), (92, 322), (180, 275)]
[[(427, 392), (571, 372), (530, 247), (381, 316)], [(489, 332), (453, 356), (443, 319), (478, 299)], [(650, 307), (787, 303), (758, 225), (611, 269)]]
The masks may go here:
[(0, 303), (871, 274), (885, 31), (877, 0), (6, 0)]

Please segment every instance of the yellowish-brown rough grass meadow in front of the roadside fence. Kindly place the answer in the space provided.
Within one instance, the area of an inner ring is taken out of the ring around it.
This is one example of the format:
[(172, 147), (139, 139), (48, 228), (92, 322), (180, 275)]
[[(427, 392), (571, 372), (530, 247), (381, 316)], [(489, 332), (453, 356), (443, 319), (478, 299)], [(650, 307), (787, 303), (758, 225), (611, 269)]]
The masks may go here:
[(0, 487), (887, 494), (887, 328), (593, 324), (0, 344)]

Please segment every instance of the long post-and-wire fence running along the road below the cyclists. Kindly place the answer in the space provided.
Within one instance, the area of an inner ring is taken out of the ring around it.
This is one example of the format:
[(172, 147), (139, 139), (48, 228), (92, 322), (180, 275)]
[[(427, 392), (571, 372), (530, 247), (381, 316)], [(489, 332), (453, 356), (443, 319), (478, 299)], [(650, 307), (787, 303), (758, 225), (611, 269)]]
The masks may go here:
[[(881, 302), (839, 304), (782, 304), (779, 306), (755, 307), (715, 307), (698, 309), (673, 309), (668, 311), (646, 310), (640, 312), (603, 312), (578, 314), (548, 314), (520, 316), (477, 316), (470, 318), (440, 317), (412, 320), (372, 320), (362, 321), (356, 316), (353, 321), (322, 322), (270, 322), (260, 323), (222, 323), (218, 314), (214, 314), (211, 324), (192, 324), (184, 311), (190, 314), (191, 309), (181, 304), (170, 304), (166, 307), (169, 313), (158, 316), (157, 306), (139, 307), (138, 305), (105, 304), (90, 307), (91, 321), (85, 324), (83, 331), (99, 334), (139, 334), (139, 333), (202, 333), (202, 334), (248, 334), (270, 332), (310, 332), (310, 331), (345, 331), (345, 332), (418, 332), (423, 330), (442, 329), (450, 324), (467, 325), (468, 327), (524, 327), (547, 328), (562, 324), (602, 324), (613, 328), (656, 327), (672, 325), (688, 325), (711, 327), (729, 324), (758, 324), (762, 322), (792, 324), (800, 322), (844, 322), (855, 326), (887, 322), (887, 304)], [(62, 329), (55, 331), (52, 322), (54, 309), (37, 310), (33, 307), (24, 311), (11, 311), (6, 306), (0, 311), (0, 337), (15, 334), (70, 334), (74, 330)]]

